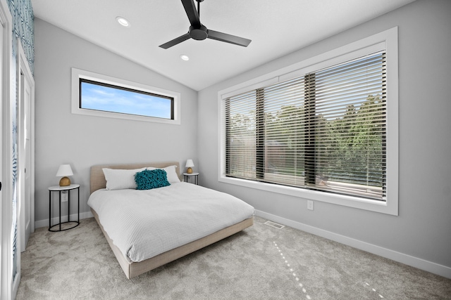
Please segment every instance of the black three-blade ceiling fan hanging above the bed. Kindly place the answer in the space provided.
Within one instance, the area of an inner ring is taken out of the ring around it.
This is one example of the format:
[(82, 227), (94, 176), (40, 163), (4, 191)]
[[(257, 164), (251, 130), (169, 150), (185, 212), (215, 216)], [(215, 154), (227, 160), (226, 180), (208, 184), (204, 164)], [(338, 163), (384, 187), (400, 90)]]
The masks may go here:
[(226, 34), (223, 32), (217, 32), (214, 30), (207, 29), (200, 22), (200, 3), (204, 0), (197, 1), (197, 10), (194, 6), (194, 0), (182, 0), (183, 7), (185, 8), (188, 19), (190, 20), (191, 26), (187, 34), (183, 34), (180, 37), (168, 41), (165, 44), (160, 45), (161, 48), (167, 49), (180, 44), (182, 41), (187, 39), (196, 39), (197, 41), (202, 41), (204, 39), (216, 39), (217, 41), (225, 41), (226, 43), (235, 44), (238, 46), (247, 47), (250, 44), (250, 39), (244, 39), (242, 37), (237, 37), (235, 35)]

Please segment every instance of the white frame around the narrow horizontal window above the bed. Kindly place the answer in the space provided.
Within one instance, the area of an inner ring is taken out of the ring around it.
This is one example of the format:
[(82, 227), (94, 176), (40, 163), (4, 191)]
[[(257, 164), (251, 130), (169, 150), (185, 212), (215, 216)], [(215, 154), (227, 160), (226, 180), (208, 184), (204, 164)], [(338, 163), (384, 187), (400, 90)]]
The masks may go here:
[[(143, 91), (144, 93), (154, 93), (160, 96), (173, 98), (173, 116), (174, 119), (164, 119), (159, 117), (146, 117), (140, 115), (121, 114), (117, 112), (106, 112), (101, 110), (88, 110), (80, 108), (80, 79), (87, 79), (97, 81), (99, 83), (110, 84), (113, 86), (121, 86), (126, 89), (136, 91)], [(116, 119), (130, 119), (144, 122), (157, 122), (166, 124), (180, 125), (180, 93), (175, 91), (168, 91), (166, 89), (156, 88), (154, 86), (147, 86), (137, 82), (127, 81), (115, 77), (106, 76), (104, 74), (97, 74), (85, 70), (72, 68), (72, 113), (78, 115), (89, 115), (95, 117), (110, 117)]]

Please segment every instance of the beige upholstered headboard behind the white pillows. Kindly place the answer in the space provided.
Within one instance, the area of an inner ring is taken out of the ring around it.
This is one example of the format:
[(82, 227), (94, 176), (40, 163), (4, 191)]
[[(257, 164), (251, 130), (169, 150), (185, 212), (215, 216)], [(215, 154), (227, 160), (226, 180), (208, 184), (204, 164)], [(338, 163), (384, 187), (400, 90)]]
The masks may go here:
[(106, 180), (103, 168), (109, 169), (140, 169), (144, 167), (164, 168), (168, 166), (177, 166), (175, 169), (180, 177), (180, 164), (178, 162), (148, 162), (142, 164), (99, 164), (91, 167), (90, 194), (96, 190), (106, 187)]

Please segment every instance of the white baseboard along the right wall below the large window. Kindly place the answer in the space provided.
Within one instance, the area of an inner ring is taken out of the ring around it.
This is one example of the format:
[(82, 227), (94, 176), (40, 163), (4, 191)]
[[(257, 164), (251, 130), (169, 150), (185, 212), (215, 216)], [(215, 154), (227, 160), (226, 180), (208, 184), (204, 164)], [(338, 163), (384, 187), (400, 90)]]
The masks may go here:
[(408, 266), (414, 268), (419, 268), (421, 270), (426, 270), (428, 272), (443, 276), (445, 278), (451, 278), (451, 268), (447, 266), (440, 265), (438, 263), (433, 263), (432, 261), (426, 261), (424, 259), (419, 259), (418, 257), (410, 256), (401, 252), (396, 252), (390, 249), (376, 246), (375, 244), (369, 244), (367, 242), (362, 242), (360, 240), (353, 239), (351, 237), (346, 237), (345, 235), (338, 235), (337, 233), (332, 233), (328, 230), (319, 229), (313, 226), (306, 225), (304, 223), (299, 223), (297, 221), (292, 221), (290, 219), (285, 219), (280, 216), (273, 214), (268, 214), (264, 211), (256, 210), (255, 214), (261, 216), (264, 219), (275, 221), (277, 223), (296, 228), (307, 233), (318, 235), (320, 237), (325, 237), (328, 240), (333, 240), (335, 242), (340, 242), (341, 244), (346, 244), (347, 246), (354, 247), (378, 256), (385, 257), (386, 259), (392, 259), (399, 263), (404, 263)]

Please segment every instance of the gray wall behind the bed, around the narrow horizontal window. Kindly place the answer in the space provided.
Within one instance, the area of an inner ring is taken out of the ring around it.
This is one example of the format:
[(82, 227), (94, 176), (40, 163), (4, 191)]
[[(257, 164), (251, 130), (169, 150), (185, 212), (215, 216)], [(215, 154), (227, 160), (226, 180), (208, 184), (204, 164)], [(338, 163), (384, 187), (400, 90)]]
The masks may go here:
[[(73, 115), (71, 67), (179, 92), (181, 124)], [(197, 161), (197, 91), (39, 19), (35, 19), (35, 84), (38, 227), (48, 226), (48, 188), (58, 185), (60, 164), (73, 168), (71, 181), (81, 185), (80, 212), (84, 213), (89, 211), (89, 167), (93, 164), (175, 160), (184, 167), (187, 158)]]

